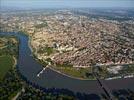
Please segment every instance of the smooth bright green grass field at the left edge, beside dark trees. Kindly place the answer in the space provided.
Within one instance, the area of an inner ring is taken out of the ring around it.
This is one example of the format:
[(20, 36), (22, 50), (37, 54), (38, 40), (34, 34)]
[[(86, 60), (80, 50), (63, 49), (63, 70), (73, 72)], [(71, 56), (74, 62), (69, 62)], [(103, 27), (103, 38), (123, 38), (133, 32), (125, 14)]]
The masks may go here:
[(6, 73), (12, 68), (14, 60), (9, 55), (0, 56), (0, 80), (4, 78)]

